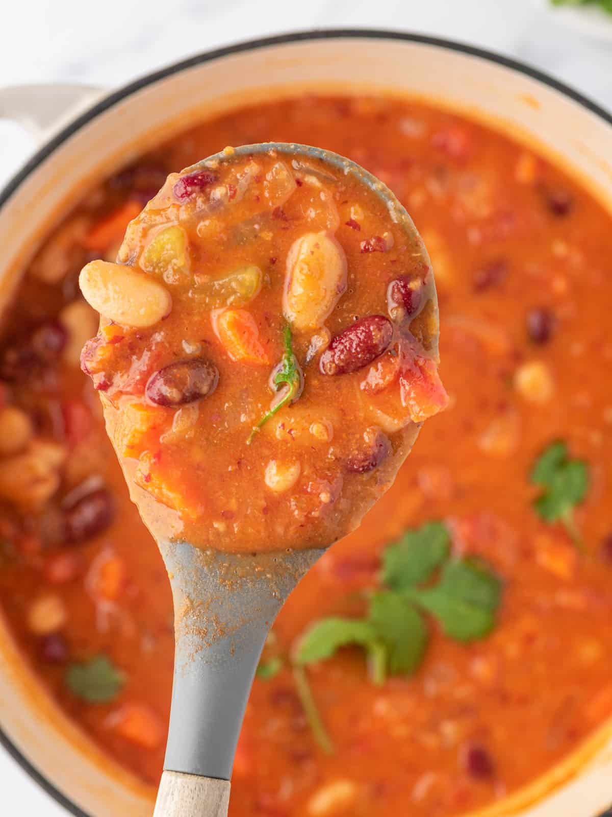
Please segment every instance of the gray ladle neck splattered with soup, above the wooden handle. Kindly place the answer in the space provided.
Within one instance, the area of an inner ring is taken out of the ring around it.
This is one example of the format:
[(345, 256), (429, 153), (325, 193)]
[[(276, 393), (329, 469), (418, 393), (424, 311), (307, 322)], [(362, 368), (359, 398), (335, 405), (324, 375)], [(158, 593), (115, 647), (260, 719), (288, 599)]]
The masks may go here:
[(164, 769), (228, 780), (269, 628), (322, 551), (241, 556), (200, 551), (187, 542), (159, 545), (175, 602)]

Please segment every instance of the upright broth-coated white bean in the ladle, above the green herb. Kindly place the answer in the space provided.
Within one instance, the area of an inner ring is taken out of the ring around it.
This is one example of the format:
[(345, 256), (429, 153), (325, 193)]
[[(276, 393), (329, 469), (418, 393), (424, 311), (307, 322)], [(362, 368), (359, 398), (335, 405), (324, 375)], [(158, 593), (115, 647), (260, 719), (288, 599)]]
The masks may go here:
[(295, 239), (287, 254), (283, 311), (298, 330), (321, 327), (346, 290), (346, 257), (325, 233)]

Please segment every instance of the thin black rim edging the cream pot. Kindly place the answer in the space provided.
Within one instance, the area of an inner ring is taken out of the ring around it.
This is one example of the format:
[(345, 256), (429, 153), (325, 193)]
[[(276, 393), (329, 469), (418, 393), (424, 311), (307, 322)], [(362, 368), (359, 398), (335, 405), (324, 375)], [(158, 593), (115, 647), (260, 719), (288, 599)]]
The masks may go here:
[[(596, 102), (589, 99), (588, 96), (584, 96), (582, 93), (576, 91), (569, 85), (561, 83), (556, 78), (553, 78), (549, 74), (546, 74), (539, 69), (533, 68), (531, 65), (526, 65), (526, 63), (519, 60), (513, 60), (511, 57), (496, 54), (494, 51), (487, 51), (485, 48), (471, 46), (463, 42), (455, 42), (454, 40), (449, 40), (446, 38), (428, 37), (423, 34), (392, 31), (388, 29), (308, 29), (304, 31), (277, 34), (273, 37), (245, 40), (222, 48), (215, 48), (212, 51), (204, 51), (202, 54), (197, 54), (196, 56), (189, 57), (186, 60), (180, 60), (180, 62), (173, 63), (165, 68), (153, 71), (150, 74), (146, 74), (144, 77), (123, 86), (118, 91), (114, 91), (108, 96), (104, 96), (103, 100), (100, 100), (100, 102), (92, 105), (90, 109), (87, 109), (85, 113), (80, 114), (73, 120), (73, 122), (71, 122), (67, 127), (64, 127), (64, 129), (50, 141), (48, 141), (45, 145), (42, 145), (42, 148), (38, 150), (27, 163), (24, 164), (20, 171), (16, 172), (15, 176), (12, 176), (11, 180), (7, 182), (7, 185), (5, 185), (2, 192), (0, 192), (0, 216), (2, 215), (2, 207), (11, 198), (11, 195), (18, 190), (25, 179), (27, 179), (27, 177), (40, 164), (42, 164), (42, 162), (51, 156), (51, 154), (58, 147), (60, 147), (64, 141), (67, 141), (70, 136), (73, 136), (74, 133), (78, 132), (87, 123), (91, 122), (92, 119), (95, 119), (100, 114), (103, 114), (105, 111), (113, 108), (114, 105), (118, 105), (119, 102), (125, 100), (132, 94), (139, 92), (144, 87), (153, 85), (159, 80), (169, 77), (172, 74), (178, 74), (180, 71), (185, 69), (193, 68), (196, 65), (202, 65), (206, 62), (217, 60), (224, 56), (240, 54), (243, 51), (255, 51), (259, 48), (265, 48), (268, 46), (286, 45), (288, 43), (304, 42), (308, 40), (358, 38), (417, 42), (422, 45), (446, 48), (449, 51), (459, 51), (460, 53), (467, 54), (468, 56), (480, 57), (482, 60), (492, 62), (496, 65), (502, 65), (503, 67), (517, 71), (520, 74), (526, 74), (526, 76), (536, 79), (540, 83), (548, 85), (548, 87), (552, 87), (564, 96), (574, 100), (574, 102), (578, 102), (579, 105), (582, 105), (583, 108), (590, 110), (593, 114), (596, 114), (606, 123), (612, 125), (612, 114), (602, 108), (601, 105), (598, 105)], [(47, 792), (47, 794), (49, 794), (57, 803), (59, 803), (60, 806), (64, 806), (64, 809), (66, 809), (69, 814), (74, 815), (74, 817), (91, 817), (91, 815), (87, 815), (86, 812), (83, 811), (76, 803), (69, 800), (69, 798), (60, 792), (59, 789), (55, 788), (51, 781), (47, 779), (45, 775), (42, 775), (42, 773), (35, 766), (33, 766), (32, 763), (30, 763), (27, 757), (24, 756), (20, 749), (16, 747), (15, 743), (13, 743), (7, 734), (2, 730), (0, 730), (0, 746), (6, 749), (8, 754), (45, 792)], [(607, 814), (608, 812), (606, 812), (606, 815)], [(606, 817), (606, 815), (601, 815), (601, 817)]]

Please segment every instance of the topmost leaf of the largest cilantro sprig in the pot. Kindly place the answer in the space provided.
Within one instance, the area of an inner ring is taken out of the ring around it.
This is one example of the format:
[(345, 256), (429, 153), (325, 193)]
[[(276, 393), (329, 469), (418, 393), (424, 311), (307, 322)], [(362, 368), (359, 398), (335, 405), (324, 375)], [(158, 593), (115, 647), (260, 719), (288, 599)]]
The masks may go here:
[(385, 548), (381, 578), (388, 587), (399, 591), (426, 582), (449, 550), (450, 535), (443, 522), (427, 522), (406, 530), (398, 542)]

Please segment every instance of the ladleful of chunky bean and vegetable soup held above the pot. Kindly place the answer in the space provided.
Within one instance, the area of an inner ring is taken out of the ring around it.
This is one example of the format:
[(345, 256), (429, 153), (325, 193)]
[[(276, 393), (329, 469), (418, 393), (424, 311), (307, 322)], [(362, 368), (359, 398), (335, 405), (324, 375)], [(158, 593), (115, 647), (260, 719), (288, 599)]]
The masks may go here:
[[(180, 516), (173, 533), (201, 547), (326, 547), (446, 405), (423, 244), (349, 167), (226, 148), (168, 176), (121, 264), (82, 270), (103, 316), (82, 368), (119, 457), (138, 461), (135, 498), (156, 535), (168, 534), (162, 502)], [(388, 382), (383, 355), (397, 361)], [(290, 380), (271, 388), (279, 376)]]

